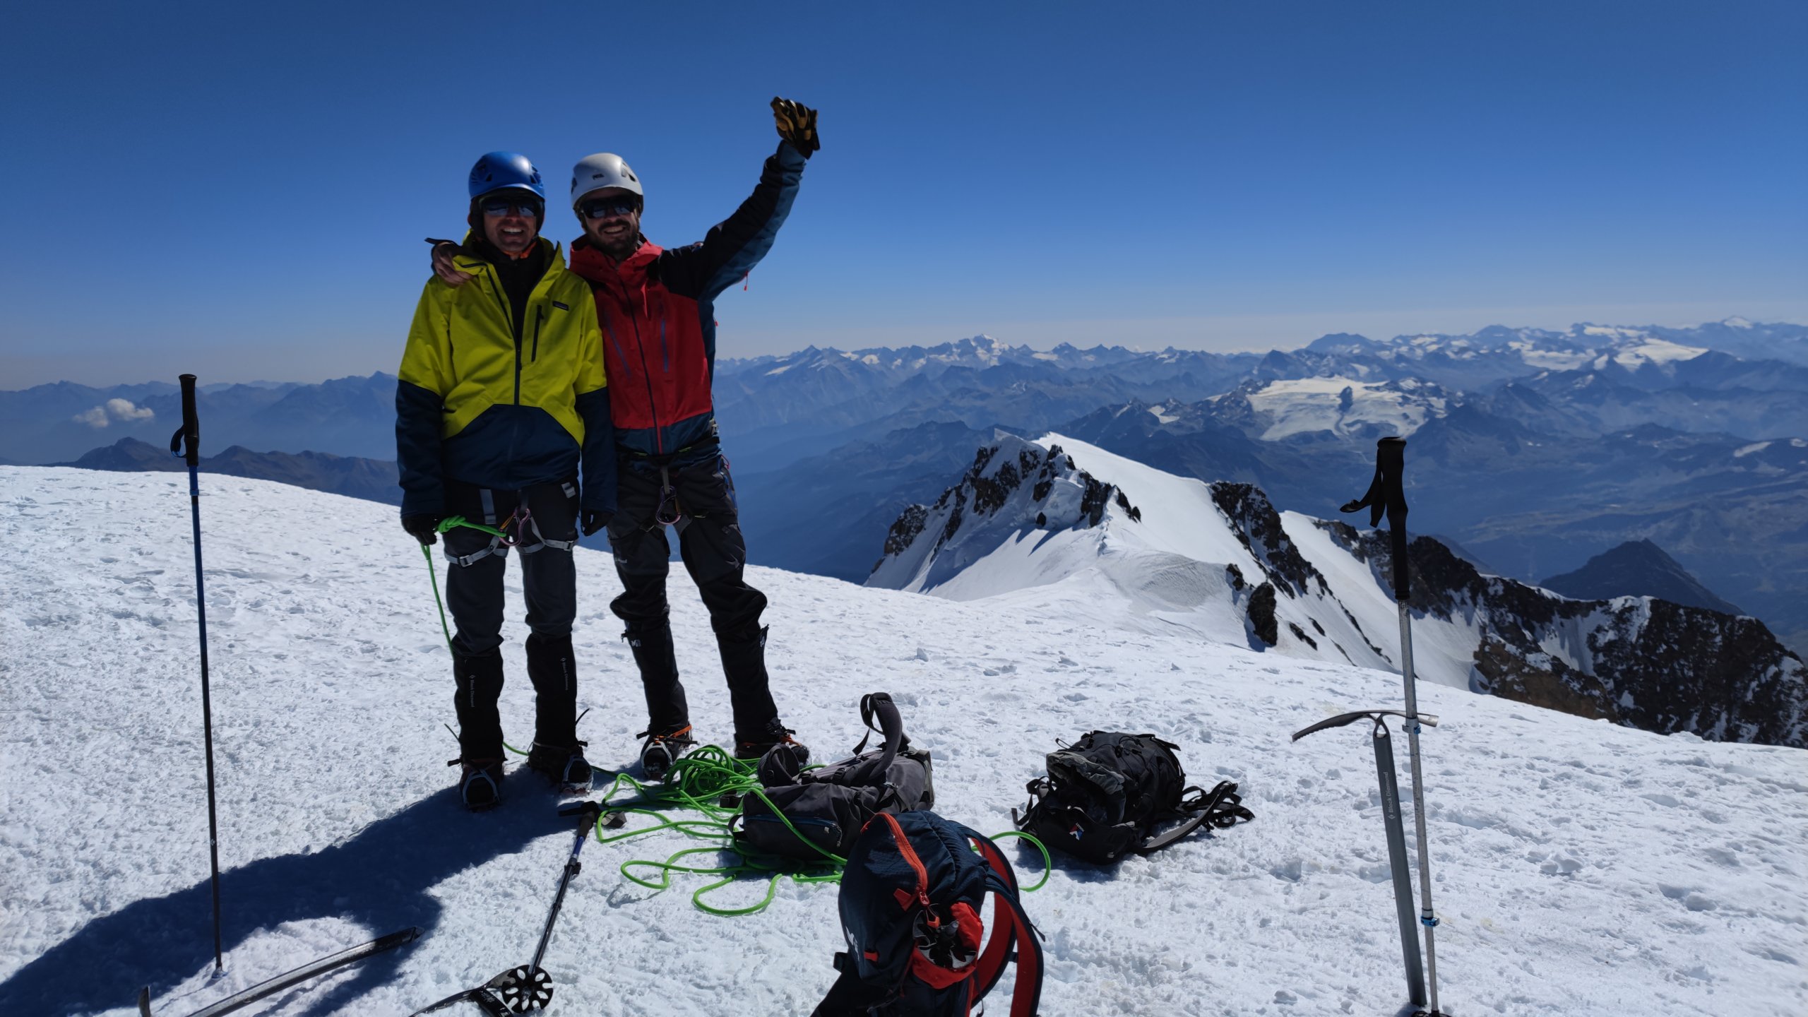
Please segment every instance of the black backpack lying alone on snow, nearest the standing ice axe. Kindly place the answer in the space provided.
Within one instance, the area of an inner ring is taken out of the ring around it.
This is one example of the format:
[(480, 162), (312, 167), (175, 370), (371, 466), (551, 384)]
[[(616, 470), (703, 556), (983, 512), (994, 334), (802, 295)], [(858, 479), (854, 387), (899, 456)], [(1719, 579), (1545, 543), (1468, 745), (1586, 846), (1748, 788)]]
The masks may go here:
[[(1049, 776), (1029, 782), (1029, 807), (1011, 818), (1043, 845), (1096, 863), (1161, 851), (1204, 823), (1255, 818), (1229, 780), (1210, 793), (1188, 787), (1177, 747), (1154, 735), (1088, 731), (1049, 753)], [(1155, 832), (1172, 820), (1181, 822)]]

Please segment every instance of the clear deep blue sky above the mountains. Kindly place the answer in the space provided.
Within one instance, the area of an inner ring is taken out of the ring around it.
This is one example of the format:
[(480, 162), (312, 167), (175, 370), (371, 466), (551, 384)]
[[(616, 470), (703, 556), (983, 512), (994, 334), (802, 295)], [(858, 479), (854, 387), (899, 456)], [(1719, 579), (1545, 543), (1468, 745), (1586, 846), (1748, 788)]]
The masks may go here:
[(689, 242), (774, 94), (823, 150), (729, 356), (1808, 320), (1794, 0), (61, 2), (5, 51), (5, 389), (392, 371), (477, 154), (620, 152)]

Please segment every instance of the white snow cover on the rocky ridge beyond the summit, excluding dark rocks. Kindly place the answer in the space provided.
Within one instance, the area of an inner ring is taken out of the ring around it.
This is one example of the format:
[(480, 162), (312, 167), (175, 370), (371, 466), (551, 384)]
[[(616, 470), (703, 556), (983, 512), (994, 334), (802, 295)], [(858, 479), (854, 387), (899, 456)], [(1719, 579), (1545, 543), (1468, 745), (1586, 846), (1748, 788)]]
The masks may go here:
[[(1036, 442), (1000, 434), (987, 476), (1018, 461), (1020, 449), (1027, 445), (1063, 449), (1079, 470), (1117, 485), (1141, 518), (1132, 519), (1110, 501), (1099, 525), (1074, 525), (1070, 516), (1079, 503), (1078, 487), (1058, 481), (1045, 501), (1036, 501), (1032, 485), (1025, 481), (993, 516), (965, 505), (956, 534), (940, 547), (933, 547), (935, 536), (951, 508), (933, 510), (922, 536), (904, 554), (880, 561), (868, 585), (951, 601), (985, 599), (987, 608), (1009, 604), (1031, 613), (1090, 617), (1137, 632), (1179, 630), (1213, 642), (1249, 642), (1244, 623), (1248, 594), (1233, 595), (1226, 566), (1235, 566), (1249, 585), (1262, 581), (1262, 568), (1211, 503), (1204, 481), (1163, 472), (1063, 434), (1045, 434)], [(1074, 490), (1063, 496), (1063, 485)], [(1047, 525), (1036, 523), (1038, 514)], [(1314, 518), (1282, 512), (1280, 519), (1287, 539), (1325, 577), (1329, 595), (1313, 585), (1296, 597), (1276, 599), (1276, 651), (1396, 668), (1399, 612), (1370, 566), (1338, 547)], [(1311, 642), (1300, 639), (1293, 626), (1305, 632)], [(1586, 655), (1582, 633), (1587, 628), (1571, 628), (1577, 633), (1573, 639), (1544, 650), (1575, 666)], [(1414, 621), (1419, 679), (1470, 688), (1479, 641), (1481, 626), (1474, 617), (1446, 621), (1421, 615)]]

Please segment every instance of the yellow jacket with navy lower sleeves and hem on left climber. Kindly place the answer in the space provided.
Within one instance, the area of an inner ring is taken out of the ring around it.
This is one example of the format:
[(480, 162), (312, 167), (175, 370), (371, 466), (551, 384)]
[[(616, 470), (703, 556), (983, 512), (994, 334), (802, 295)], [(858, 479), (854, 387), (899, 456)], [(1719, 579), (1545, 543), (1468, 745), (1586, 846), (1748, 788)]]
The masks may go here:
[[(466, 239), (466, 248), (470, 241)], [(427, 280), (396, 371), (401, 514), (443, 514), (448, 481), (523, 490), (579, 474), (582, 508), (615, 512), (615, 434), (589, 284), (539, 239), (546, 271), (515, 320), (495, 268)]]

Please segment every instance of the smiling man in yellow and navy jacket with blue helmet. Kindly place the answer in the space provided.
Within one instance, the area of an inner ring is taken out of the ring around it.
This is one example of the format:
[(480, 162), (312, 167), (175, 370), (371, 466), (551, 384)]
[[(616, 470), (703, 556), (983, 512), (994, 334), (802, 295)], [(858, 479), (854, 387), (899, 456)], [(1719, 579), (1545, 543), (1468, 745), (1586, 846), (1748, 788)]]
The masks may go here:
[[(521, 554), (528, 603), (533, 749), (528, 767), (589, 785), (577, 740), (571, 621), (579, 521), (593, 534), (615, 514), (615, 436), (602, 335), (586, 284), (541, 239), (546, 190), (515, 152), (470, 172), (470, 235), (459, 270), (474, 284), (428, 279), (396, 385), (401, 527), (430, 545), (445, 527), (447, 606), (457, 624), (459, 794), (499, 802), (503, 778), (503, 572)], [(582, 467), (582, 483), (579, 470)]]

